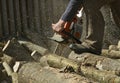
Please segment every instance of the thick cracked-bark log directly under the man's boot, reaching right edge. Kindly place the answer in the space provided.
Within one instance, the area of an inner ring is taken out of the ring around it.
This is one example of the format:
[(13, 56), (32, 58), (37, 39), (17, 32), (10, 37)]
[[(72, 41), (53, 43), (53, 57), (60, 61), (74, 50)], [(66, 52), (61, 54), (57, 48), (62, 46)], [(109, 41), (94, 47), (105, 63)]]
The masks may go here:
[(99, 70), (120, 71), (120, 62), (107, 57), (90, 53), (76, 54), (71, 52), (69, 58), (79, 61), (84, 65), (91, 65)]

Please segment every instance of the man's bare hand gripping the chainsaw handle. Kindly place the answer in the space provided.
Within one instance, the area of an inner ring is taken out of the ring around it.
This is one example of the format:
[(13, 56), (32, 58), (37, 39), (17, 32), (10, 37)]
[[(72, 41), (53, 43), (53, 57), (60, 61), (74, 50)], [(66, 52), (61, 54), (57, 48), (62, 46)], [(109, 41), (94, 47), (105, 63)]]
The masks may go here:
[(56, 24), (52, 24), (52, 29), (55, 32), (60, 33), (64, 29), (64, 25), (65, 21), (60, 19)]

